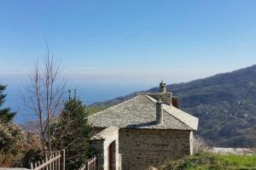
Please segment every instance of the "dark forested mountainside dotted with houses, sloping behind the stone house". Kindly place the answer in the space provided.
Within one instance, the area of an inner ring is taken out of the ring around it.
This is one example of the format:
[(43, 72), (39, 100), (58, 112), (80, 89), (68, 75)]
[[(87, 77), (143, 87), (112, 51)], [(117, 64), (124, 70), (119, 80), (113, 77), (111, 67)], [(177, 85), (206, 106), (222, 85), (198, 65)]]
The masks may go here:
[[(169, 82), (168, 80), (165, 80)], [(151, 88), (147, 92), (157, 92)], [(183, 111), (200, 118), (198, 133), (214, 145), (247, 147), (256, 143), (256, 65), (193, 82), (167, 86)], [(134, 94), (96, 105), (114, 105)]]

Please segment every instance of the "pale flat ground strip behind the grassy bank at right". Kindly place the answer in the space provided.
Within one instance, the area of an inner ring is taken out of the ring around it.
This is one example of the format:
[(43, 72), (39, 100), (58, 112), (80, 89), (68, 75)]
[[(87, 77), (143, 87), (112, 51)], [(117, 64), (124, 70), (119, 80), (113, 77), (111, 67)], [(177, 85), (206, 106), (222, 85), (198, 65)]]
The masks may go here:
[(256, 149), (247, 148), (213, 148), (212, 152), (218, 154), (256, 155)]

